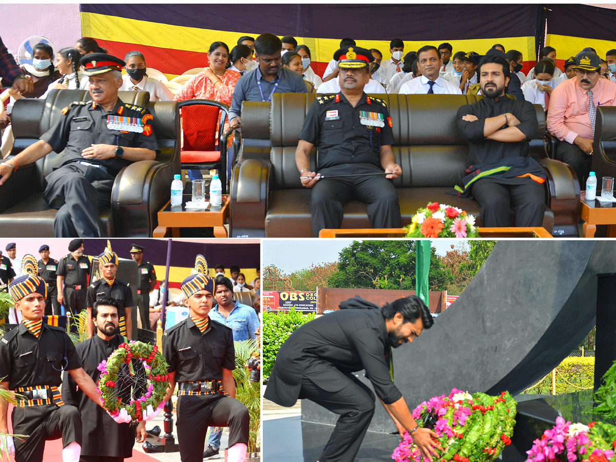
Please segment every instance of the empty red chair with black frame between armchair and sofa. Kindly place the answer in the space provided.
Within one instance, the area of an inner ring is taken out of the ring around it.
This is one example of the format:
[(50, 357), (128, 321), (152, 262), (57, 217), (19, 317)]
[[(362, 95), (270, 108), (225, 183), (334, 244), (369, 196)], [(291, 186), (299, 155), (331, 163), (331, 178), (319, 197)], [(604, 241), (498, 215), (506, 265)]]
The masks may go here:
[[(224, 126), (229, 118), (229, 107), (206, 99), (182, 101), (177, 106), (182, 126), (181, 168), (216, 169), (221, 179), (222, 193), (226, 194), (227, 139), (230, 131), (225, 133)], [(219, 150), (216, 150), (216, 140)]]

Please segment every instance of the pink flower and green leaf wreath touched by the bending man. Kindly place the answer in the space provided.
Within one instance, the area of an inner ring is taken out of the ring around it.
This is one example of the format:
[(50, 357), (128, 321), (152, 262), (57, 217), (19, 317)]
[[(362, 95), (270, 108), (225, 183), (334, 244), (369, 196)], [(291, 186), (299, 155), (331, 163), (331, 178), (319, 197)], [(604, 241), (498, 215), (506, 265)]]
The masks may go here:
[[(511, 444), (516, 424), (516, 401), (509, 392), (500, 396), (468, 394), (453, 389), (448, 395), (431, 398), (413, 411), (420, 427), (432, 428), (439, 436), (443, 451), (434, 462), (482, 462), (496, 458)], [(404, 432), (403, 440), (392, 454), (396, 462), (426, 462), (428, 459)]]

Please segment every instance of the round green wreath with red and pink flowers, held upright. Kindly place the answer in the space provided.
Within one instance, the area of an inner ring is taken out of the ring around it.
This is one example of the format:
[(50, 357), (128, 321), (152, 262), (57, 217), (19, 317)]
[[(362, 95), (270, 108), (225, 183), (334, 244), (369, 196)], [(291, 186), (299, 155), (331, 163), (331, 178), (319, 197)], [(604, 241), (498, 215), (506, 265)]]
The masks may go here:
[[(118, 373), (123, 363), (128, 364), (131, 375), (134, 375), (132, 359), (143, 361), (147, 378), (147, 392), (135, 399), (131, 396), (130, 403), (124, 403), (115, 393)], [(107, 360), (99, 364), (100, 378), (97, 381), (97, 391), (100, 393), (100, 401), (112, 417), (120, 413), (121, 408), (126, 408), (132, 421), (142, 420), (142, 413), (148, 405), (153, 410), (164, 406), (163, 397), (169, 386), (167, 370), (169, 365), (163, 355), (158, 352), (158, 347), (144, 343), (131, 341), (129, 344), (122, 343), (111, 353)]]

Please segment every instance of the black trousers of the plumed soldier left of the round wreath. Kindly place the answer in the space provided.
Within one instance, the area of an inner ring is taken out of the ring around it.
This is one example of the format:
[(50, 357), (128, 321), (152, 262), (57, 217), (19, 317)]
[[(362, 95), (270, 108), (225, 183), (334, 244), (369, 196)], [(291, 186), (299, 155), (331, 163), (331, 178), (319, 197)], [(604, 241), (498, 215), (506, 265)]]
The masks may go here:
[(15, 462), (43, 461), (46, 440), (62, 437), (64, 448), (73, 441), (81, 445), (81, 414), (74, 406), (14, 407), (11, 418), (14, 434), (30, 435), (23, 439), (13, 437)]

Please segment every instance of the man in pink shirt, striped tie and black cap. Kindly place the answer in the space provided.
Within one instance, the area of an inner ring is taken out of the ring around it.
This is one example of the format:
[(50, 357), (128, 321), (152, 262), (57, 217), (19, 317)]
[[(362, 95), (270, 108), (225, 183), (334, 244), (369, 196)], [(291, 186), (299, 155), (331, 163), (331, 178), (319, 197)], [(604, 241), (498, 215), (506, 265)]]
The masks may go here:
[(601, 78), (601, 58), (592, 52), (578, 53), (574, 69), (576, 78), (552, 92), (547, 126), (558, 139), (554, 158), (572, 166), (584, 188), (592, 164), (597, 106), (616, 105), (616, 83)]

